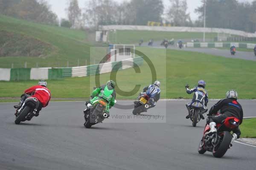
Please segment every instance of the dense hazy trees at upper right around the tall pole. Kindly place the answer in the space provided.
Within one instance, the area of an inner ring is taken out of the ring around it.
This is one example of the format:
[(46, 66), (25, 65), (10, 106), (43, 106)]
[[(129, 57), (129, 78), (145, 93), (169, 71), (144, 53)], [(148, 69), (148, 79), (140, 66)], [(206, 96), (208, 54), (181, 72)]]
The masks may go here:
[[(195, 10), (199, 14), (198, 26), (203, 25), (204, 0), (202, 3)], [(206, 26), (256, 32), (256, 0), (206, 0)]]

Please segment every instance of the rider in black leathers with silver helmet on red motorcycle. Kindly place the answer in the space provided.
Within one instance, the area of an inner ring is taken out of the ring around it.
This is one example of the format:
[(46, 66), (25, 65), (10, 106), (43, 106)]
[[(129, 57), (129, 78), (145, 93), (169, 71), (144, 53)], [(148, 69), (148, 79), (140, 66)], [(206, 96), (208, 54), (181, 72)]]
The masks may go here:
[[(218, 101), (209, 110), (209, 117), (207, 118), (207, 124), (209, 124), (211, 128), (209, 133), (217, 132), (217, 129), (215, 128), (216, 123), (222, 123), (222, 121), (224, 121), (227, 117), (238, 118), (240, 122), (239, 125), (243, 121), (243, 109), (241, 104), (239, 104), (237, 101), (237, 92), (235, 90), (229, 90), (226, 93), (226, 97), (227, 98)], [(218, 110), (220, 110), (220, 115), (216, 115)], [(233, 130), (232, 142), (239, 138), (240, 135), (241, 131), (239, 127), (237, 127), (235, 130)]]

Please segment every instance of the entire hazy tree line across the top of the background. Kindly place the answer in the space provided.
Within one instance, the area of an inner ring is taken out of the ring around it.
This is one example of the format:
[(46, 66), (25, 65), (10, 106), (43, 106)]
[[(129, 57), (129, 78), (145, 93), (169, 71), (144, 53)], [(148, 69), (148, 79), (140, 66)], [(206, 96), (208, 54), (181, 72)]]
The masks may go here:
[[(68, 28), (94, 27), (99, 25), (147, 25), (148, 21), (171, 24), (172, 26), (203, 26), (204, 3), (206, 26), (256, 31), (256, 0), (253, 3), (238, 0), (202, 0), (195, 9), (198, 20), (192, 22), (187, 12), (186, 0), (169, 0), (164, 7), (162, 0), (130, 0), (117, 3), (115, 0), (89, 0), (85, 8), (78, 0), (67, 0), (67, 19), (61, 26)], [(58, 17), (50, 10), (46, 0), (0, 0), (0, 14), (31, 20), (38, 23), (58, 24)]]

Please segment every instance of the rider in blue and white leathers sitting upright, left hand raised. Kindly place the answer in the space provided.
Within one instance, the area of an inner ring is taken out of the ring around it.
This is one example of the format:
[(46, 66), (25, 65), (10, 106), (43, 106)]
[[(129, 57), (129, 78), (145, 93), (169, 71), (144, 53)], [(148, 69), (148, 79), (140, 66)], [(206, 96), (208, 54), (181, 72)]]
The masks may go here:
[[(192, 103), (195, 103), (196, 101), (199, 101), (201, 104), (204, 105), (204, 109), (202, 109), (202, 111), (199, 113), (201, 119), (204, 119), (203, 114), (204, 114), (205, 112), (207, 112), (207, 110), (208, 110), (208, 109), (207, 109), (208, 92), (207, 92), (206, 89), (204, 89), (204, 88), (205, 88), (205, 85), (206, 85), (205, 81), (200, 80), (200, 81), (198, 81), (198, 86), (194, 87), (193, 89), (189, 89), (189, 85), (188, 85), (188, 84), (185, 86), (186, 92), (187, 92), (188, 94), (191, 94), (191, 93), (193, 93), (193, 92), (195, 93), (195, 94), (194, 94), (194, 97), (193, 97), (193, 99), (192, 99), (192, 102), (186, 104), (186, 107), (187, 107), (187, 109), (188, 109), (188, 111), (189, 111), (189, 115), (186, 116), (187, 119), (190, 118), (190, 115), (192, 114), (192, 113), (191, 113), (191, 104), (192, 104)], [(204, 100), (204, 102), (203, 102), (203, 100)]]

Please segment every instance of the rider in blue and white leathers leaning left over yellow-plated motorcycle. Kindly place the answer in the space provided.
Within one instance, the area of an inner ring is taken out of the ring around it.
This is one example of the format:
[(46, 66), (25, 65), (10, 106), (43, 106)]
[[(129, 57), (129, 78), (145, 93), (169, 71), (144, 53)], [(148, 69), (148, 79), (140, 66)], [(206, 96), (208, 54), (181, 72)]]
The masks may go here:
[[(140, 96), (146, 93), (150, 97), (150, 108), (155, 107), (157, 101), (160, 99), (160, 81), (155, 81), (154, 84), (151, 84), (149, 86), (145, 86), (143, 88), (143, 92), (140, 93)], [(140, 98), (139, 96), (139, 98)]]

